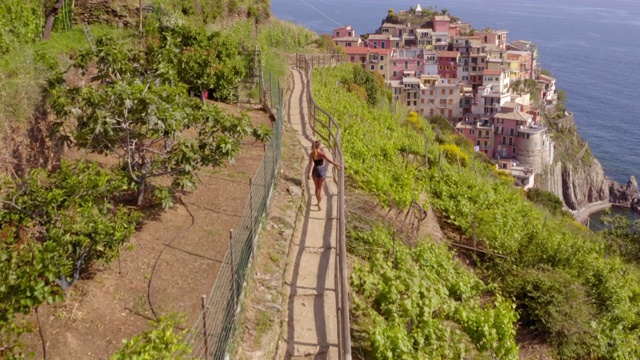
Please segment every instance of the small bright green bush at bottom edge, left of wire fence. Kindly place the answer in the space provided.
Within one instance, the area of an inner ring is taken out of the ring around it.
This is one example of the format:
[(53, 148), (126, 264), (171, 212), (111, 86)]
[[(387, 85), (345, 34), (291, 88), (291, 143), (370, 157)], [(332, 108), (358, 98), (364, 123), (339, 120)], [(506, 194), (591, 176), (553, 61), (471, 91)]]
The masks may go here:
[(175, 315), (158, 318), (151, 329), (136, 335), (111, 356), (111, 360), (187, 359), (189, 348), (186, 331), (176, 331), (179, 321)]

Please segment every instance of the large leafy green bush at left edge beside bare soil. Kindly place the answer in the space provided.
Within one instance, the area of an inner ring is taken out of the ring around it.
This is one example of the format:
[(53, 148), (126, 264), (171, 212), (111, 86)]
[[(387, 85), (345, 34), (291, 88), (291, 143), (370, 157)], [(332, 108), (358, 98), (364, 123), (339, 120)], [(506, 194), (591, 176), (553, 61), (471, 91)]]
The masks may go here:
[(127, 190), (126, 184), (124, 178), (82, 162), (63, 162), (51, 174), (35, 169), (24, 179), (4, 180), (0, 343), (15, 341), (20, 331), (16, 316), (42, 302), (61, 300), (62, 290), (92, 262), (118, 256), (139, 219), (113, 201), (114, 194)]

